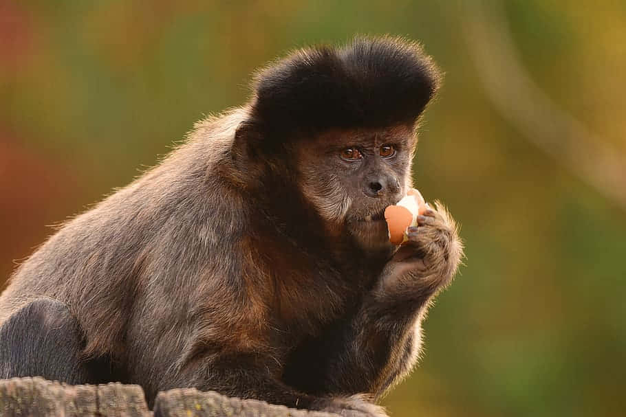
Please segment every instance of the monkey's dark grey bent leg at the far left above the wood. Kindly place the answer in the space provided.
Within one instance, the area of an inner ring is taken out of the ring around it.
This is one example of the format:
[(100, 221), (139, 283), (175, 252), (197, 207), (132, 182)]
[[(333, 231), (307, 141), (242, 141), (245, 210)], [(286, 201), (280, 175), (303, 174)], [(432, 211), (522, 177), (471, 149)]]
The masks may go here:
[(83, 360), (78, 321), (65, 304), (39, 299), (0, 326), (0, 379), (43, 376), (69, 384), (111, 381), (105, 360)]

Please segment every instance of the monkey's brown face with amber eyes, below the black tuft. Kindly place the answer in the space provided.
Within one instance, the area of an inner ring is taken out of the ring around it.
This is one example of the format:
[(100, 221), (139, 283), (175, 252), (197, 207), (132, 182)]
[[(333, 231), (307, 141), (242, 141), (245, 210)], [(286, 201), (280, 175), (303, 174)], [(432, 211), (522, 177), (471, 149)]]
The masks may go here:
[(385, 207), (411, 185), (413, 126), (329, 131), (297, 148), (298, 185), (334, 234), (366, 251), (389, 243)]

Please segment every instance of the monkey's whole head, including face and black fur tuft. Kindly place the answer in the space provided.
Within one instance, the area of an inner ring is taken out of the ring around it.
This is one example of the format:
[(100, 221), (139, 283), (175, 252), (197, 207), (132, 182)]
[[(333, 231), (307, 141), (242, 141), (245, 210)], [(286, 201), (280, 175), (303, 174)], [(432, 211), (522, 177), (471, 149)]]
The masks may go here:
[(301, 49), (257, 74), (237, 156), (288, 178), (325, 234), (390, 249), (383, 212), (411, 186), (415, 127), (438, 82), (420, 46), (400, 38)]

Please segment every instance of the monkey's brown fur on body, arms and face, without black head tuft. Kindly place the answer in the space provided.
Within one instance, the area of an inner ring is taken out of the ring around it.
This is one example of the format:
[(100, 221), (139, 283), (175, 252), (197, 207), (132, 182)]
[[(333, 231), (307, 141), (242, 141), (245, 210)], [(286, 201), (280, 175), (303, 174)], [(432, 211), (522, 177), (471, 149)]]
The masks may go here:
[[(291, 131), (272, 146), (250, 105), (199, 122), (159, 166), (19, 267), (0, 325), (34, 300), (67, 306), (83, 358), (109, 358), (149, 402), (194, 386), (385, 415), (366, 397), (412, 368), (424, 313), (462, 256), (441, 205), (397, 252), (386, 229), (364, 229), (411, 186), (425, 94), (413, 122), (402, 113), (387, 126)], [(377, 157), (389, 143), (397, 154)], [(349, 146), (367, 157), (341, 160)], [(384, 184), (379, 196), (363, 193), (372, 181)]]

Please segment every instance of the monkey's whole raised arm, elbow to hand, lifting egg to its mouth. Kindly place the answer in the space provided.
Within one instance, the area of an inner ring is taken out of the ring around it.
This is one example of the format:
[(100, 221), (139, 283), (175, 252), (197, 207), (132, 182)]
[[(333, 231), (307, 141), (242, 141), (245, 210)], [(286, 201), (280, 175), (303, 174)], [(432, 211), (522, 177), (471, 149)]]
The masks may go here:
[(440, 204), (418, 218), (408, 236), (363, 304), (296, 350), (285, 381), (317, 394), (378, 396), (411, 369), (420, 320), (429, 300), (452, 280), (462, 244)]

